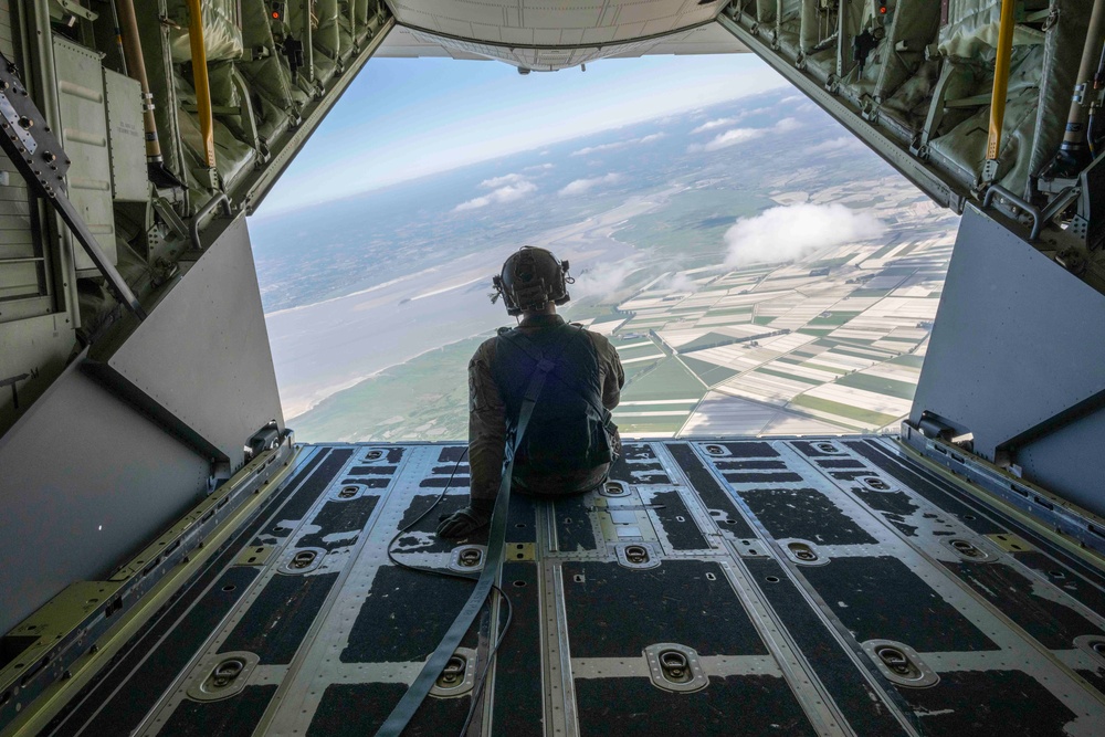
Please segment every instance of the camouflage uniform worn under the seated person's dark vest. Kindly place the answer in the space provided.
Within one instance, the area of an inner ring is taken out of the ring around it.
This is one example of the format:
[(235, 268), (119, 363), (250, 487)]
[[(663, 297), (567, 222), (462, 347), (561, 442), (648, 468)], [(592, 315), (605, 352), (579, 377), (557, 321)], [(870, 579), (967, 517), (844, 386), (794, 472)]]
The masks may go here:
[[(518, 326), (523, 333), (536, 333), (546, 326), (564, 325), (559, 315), (533, 315)], [(603, 336), (583, 330), (594, 346), (599, 362), (599, 385), (602, 387), (602, 404), (608, 410), (618, 407), (625, 372), (622, 370), (618, 351)], [(497, 338), (491, 338), (476, 349), (469, 362), (469, 464), (471, 467), (471, 496), (473, 502), (491, 502), (498, 494), (503, 478), (503, 456), (506, 449), (506, 407), (498, 386), (492, 375)], [(540, 400), (538, 400), (540, 401)], [(617, 452), (621, 452), (621, 441), (614, 440)], [(529, 494), (556, 494), (562, 489), (585, 491), (598, 485), (606, 476), (609, 464), (603, 464), (583, 474), (566, 474), (543, 478), (543, 483), (530, 488), (518, 488)]]

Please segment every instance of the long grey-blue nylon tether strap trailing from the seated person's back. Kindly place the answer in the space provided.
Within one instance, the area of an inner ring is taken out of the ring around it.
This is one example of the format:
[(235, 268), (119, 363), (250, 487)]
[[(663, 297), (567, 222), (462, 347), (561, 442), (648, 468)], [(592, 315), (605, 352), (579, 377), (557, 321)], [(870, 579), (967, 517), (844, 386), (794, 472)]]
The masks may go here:
[(480, 573), (480, 579), (476, 581), (476, 588), (472, 590), (467, 602), (461, 609), (456, 619), (453, 620), (453, 624), (449, 628), (449, 632), (445, 633), (441, 643), (438, 644), (438, 649), (433, 651), (430, 660), (422, 666), (422, 672), (414, 678), (414, 683), (407, 689), (403, 697), (399, 699), (396, 707), (391, 709), (388, 720), (376, 733), (376, 737), (399, 737), (402, 735), (403, 729), (407, 728), (408, 723), (414, 717), (414, 713), (418, 712), (419, 706), (422, 705), (422, 702), (430, 694), (430, 689), (433, 687), (438, 676), (441, 675), (445, 665), (449, 664), (449, 659), (456, 652), (456, 647), (461, 644), (464, 633), (469, 631), (472, 622), (476, 619), (476, 614), (483, 609), (484, 601), (486, 601), (487, 596), (491, 593), (491, 587), (495, 583), (495, 579), (498, 578), (498, 569), (503, 565), (503, 544), (506, 540), (506, 513), (511, 506), (511, 476), (514, 474), (514, 456), (522, 444), (522, 438), (526, 433), (529, 418), (533, 417), (537, 398), (540, 396), (541, 389), (545, 388), (545, 379), (548, 377), (549, 371), (556, 367), (556, 359), (560, 357), (560, 354), (564, 352), (564, 349), (568, 346), (572, 337), (575, 335), (569, 336), (567, 340), (562, 341), (562, 345), (557, 348), (552, 359), (541, 358), (537, 361), (537, 370), (529, 380), (529, 386), (522, 402), (522, 409), (518, 412), (518, 427), (514, 435), (514, 443), (507, 445), (507, 459), (506, 465), (503, 468), (503, 481), (498, 485), (495, 510), (492, 513), (491, 529), (487, 533), (487, 554), (484, 556), (484, 568)]

